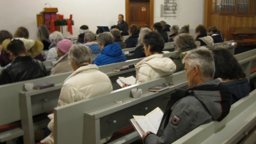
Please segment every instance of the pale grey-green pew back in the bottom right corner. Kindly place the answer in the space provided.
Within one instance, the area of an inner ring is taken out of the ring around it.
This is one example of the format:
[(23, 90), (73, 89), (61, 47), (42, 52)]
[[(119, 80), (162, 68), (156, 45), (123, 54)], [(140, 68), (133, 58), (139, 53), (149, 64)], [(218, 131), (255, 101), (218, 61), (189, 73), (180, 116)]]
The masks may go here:
[(256, 90), (253, 90), (232, 104), (230, 113), (221, 122), (200, 125), (174, 143), (238, 143), (256, 125), (255, 109)]

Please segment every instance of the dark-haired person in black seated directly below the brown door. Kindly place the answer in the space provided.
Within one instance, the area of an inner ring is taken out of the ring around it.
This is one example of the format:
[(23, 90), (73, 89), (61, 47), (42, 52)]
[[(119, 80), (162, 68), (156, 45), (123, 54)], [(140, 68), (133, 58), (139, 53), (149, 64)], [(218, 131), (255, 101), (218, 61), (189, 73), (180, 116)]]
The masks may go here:
[(126, 48), (136, 47), (138, 43), (140, 27), (132, 24), (129, 28), (129, 37), (125, 40)]

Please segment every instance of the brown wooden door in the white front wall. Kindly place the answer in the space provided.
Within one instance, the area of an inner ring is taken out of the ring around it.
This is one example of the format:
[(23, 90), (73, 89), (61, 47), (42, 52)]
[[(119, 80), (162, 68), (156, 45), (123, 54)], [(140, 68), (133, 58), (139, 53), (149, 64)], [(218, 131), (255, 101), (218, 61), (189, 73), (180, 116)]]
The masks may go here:
[(136, 24), (140, 28), (150, 28), (149, 1), (130, 1), (130, 24)]

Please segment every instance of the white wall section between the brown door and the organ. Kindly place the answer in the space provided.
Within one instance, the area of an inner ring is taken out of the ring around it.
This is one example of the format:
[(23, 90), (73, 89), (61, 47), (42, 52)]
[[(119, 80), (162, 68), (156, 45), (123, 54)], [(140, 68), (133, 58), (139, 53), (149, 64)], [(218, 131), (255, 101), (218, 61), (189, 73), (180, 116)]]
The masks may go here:
[(161, 17), (161, 4), (164, 0), (154, 1), (154, 22), (164, 20), (170, 26), (178, 25), (180, 28), (189, 24), (189, 33), (195, 35), (198, 24), (204, 24), (204, 0), (175, 0), (177, 3), (177, 17)]

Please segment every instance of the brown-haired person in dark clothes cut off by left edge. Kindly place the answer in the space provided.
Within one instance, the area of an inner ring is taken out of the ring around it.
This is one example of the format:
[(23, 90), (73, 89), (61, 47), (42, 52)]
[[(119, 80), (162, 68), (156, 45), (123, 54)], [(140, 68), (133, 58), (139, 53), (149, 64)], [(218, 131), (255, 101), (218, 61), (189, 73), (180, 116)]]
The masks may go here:
[(0, 54), (0, 66), (1, 67), (5, 67), (6, 65), (8, 65), (9, 63), (12, 62), (12, 60), (10, 60), (9, 56), (8, 56), (8, 52), (6, 47), (4, 48), (2, 46), (4, 40), (6, 39), (10, 39), (12, 40), (13, 36), (9, 31), (5, 31), (5, 30), (1, 30), (0, 31), (0, 47), (1, 47), (1, 54)]

